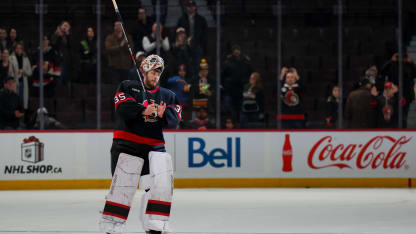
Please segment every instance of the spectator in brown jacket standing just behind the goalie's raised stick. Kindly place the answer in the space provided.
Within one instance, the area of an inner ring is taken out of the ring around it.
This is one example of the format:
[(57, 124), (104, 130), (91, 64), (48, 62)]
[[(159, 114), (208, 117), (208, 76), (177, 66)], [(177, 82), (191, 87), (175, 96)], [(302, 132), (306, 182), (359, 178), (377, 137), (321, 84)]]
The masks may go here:
[[(123, 36), (121, 27), (120, 21), (114, 22), (114, 32), (105, 38), (105, 50), (111, 75), (114, 77), (113, 83), (119, 83), (127, 79), (129, 69), (132, 66), (127, 41)], [(132, 42), (130, 35), (127, 35), (127, 38)], [(131, 46), (134, 47), (134, 45)]]

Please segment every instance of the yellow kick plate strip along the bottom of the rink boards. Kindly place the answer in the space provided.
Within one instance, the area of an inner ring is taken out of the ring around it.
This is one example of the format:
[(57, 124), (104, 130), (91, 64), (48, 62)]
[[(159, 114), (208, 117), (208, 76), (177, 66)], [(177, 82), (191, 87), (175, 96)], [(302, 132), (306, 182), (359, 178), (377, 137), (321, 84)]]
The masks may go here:
[[(0, 190), (107, 189), (111, 180), (0, 180)], [(175, 188), (416, 188), (416, 178), (179, 179)]]

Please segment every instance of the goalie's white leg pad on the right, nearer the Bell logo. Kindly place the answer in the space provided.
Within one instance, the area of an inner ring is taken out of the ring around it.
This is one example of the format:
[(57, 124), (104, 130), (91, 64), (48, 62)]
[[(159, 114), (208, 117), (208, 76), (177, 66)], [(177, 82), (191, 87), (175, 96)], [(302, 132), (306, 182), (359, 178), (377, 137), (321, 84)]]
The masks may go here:
[(148, 230), (171, 232), (169, 216), (173, 195), (172, 157), (166, 152), (149, 153), (150, 190), (142, 197), (141, 220)]

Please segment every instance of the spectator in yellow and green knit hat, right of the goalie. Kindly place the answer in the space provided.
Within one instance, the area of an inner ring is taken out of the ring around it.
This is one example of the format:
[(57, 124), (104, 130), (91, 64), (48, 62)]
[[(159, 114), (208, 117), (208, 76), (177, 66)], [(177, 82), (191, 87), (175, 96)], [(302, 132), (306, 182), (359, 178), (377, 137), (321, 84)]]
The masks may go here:
[(200, 71), (192, 81), (190, 95), (192, 99), (192, 107), (194, 111), (199, 108), (206, 108), (208, 112), (213, 112), (214, 102), (211, 100), (215, 82), (209, 79), (209, 67), (206, 59), (201, 60)]

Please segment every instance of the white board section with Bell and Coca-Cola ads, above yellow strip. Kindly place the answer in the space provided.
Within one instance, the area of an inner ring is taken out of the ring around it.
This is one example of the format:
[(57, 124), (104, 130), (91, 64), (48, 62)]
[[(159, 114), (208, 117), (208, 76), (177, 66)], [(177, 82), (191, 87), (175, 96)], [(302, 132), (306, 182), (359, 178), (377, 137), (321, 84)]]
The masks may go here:
[(413, 132), (175, 133), (176, 176), (410, 178)]

